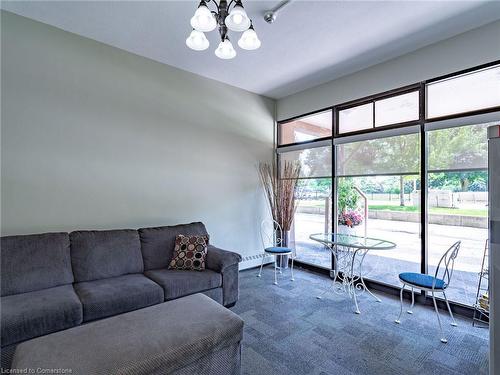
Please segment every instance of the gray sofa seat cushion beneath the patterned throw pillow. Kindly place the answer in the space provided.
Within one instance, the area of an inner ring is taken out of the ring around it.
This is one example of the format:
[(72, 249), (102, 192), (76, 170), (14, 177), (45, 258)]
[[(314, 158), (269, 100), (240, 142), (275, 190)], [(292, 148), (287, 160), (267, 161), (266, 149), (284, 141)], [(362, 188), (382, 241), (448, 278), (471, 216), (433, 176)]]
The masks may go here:
[(162, 286), (165, 301), (222, 286), (222, 275), (208, 269), (202, 272), (163, 269), (146, 271), (145, 275)]

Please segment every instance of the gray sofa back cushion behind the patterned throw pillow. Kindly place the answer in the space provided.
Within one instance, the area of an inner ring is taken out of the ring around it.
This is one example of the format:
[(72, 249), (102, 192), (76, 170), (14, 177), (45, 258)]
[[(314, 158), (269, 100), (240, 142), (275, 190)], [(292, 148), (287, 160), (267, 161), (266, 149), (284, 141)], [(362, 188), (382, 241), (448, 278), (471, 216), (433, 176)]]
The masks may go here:
[(168, 227), (141, 228), (141, 249), (144, 259), (144, 270), (166, 268), (172, 260), (175, 237), (208, 235), (203, 223), (179, 224)]

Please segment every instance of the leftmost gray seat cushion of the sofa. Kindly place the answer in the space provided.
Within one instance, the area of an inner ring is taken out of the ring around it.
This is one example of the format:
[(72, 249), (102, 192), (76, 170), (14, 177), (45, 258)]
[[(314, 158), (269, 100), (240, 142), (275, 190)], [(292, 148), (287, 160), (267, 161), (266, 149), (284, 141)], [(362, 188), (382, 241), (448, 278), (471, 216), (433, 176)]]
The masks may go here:
[(71, 285), (2, 297), (2, 346), (82, 323), (82, 304)]

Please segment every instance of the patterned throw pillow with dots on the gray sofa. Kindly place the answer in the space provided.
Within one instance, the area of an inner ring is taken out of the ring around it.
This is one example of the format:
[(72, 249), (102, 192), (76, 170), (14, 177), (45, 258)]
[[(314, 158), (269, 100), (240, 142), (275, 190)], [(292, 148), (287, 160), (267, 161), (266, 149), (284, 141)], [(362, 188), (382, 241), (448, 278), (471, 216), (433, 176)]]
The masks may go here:
[(183, 236), (175, 238), (174, 256), (168, 269), (203, 271), (207, 256), (208, 236)]

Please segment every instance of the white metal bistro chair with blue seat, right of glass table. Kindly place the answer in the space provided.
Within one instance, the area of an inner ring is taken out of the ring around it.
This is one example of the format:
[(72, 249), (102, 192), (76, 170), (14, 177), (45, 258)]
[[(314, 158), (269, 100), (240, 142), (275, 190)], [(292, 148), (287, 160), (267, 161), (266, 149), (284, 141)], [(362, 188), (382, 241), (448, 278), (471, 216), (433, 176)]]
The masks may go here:
[[(436, 315), (438, 317), (441, 342), (445, 344), (448, 342), (448, 340), (444, 336), (443, 327), (441, 326), (441, 318), (439, 317), (435, 293), (443, 293), (444, 300), (446, 301), (446, 306), (448, 307), (448, 312), (450, 313), (450, 317), (452, 320), (451, 325), (453, 327), (456, 327), (457, 323), (455, 321), (455, 318), (453, 317), (453, 313), (451, 312), (450, 304), (448, 303), (448, 298), (446, 298), (445, 290), (450, 285), (451, 277), (453, 276), (453, 266), (455, 264), (455, 259), (458, 255), (459, 249), (460, 241), (455, 242), (448, 250), (446, 250), (438, 263), (434, 276), (412, 272), (399, 274), (399, 280), (403, 283), (403, 286), (401, 287), (400, 292), (401, 310), (399, 312), (399, 317), (395, 320), (397, 324), (401, 323), (400, 319), (401, 314), (403, 313), (403, 290), (406, 285), (411, 287), (411, 307), (410, 310), (407, 311), (408, 314), (413, 314), (412, 309), (415, 304), (414, 288), (431, 292), (432, 301), (434, 302), (434, 309), (436, 310)], [(444, 267), (444, 270), (440, 273), (441, 266)], [(441, 277), (438, 277), (440, 275)]]

